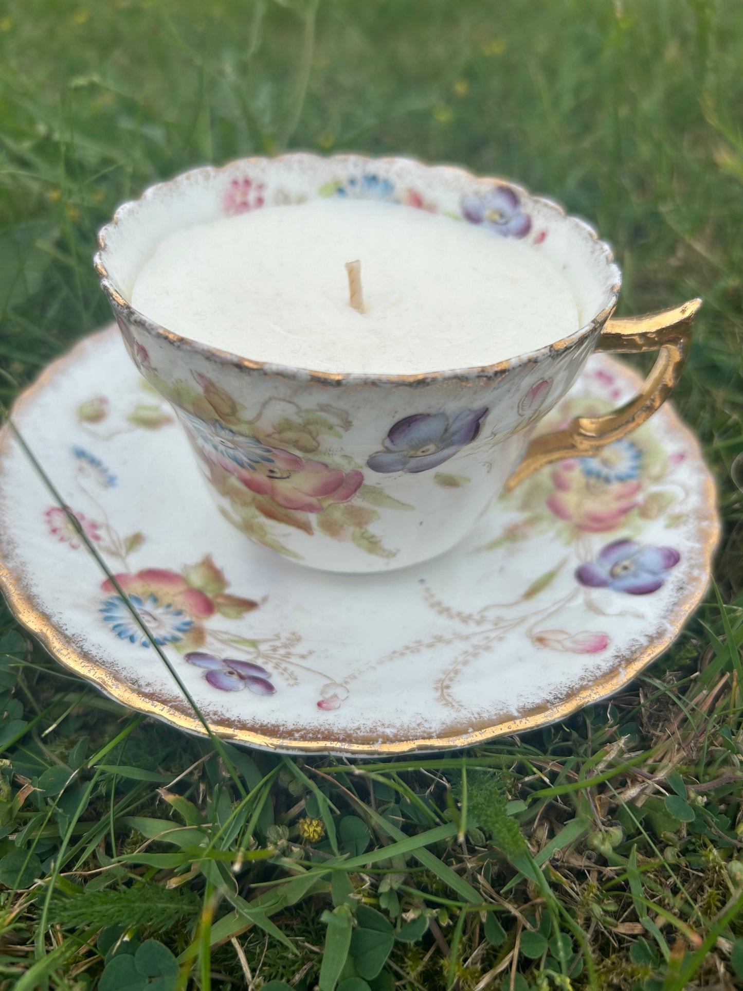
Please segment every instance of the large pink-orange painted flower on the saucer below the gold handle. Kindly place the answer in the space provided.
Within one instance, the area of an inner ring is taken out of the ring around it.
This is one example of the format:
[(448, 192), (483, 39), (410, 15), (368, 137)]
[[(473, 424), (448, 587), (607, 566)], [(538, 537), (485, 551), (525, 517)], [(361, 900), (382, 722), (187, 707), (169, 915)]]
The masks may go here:
[(571, 458), (555, 468), (552, 473), (555, 492), (547, 499), (547, 505), (560, 519), (587, 533), (615, 530), (627, 513), (640, 504), (638, 494), (642, 485), (637, 479), (605, 482), (586, 473), (583, 460), (588, 459)]

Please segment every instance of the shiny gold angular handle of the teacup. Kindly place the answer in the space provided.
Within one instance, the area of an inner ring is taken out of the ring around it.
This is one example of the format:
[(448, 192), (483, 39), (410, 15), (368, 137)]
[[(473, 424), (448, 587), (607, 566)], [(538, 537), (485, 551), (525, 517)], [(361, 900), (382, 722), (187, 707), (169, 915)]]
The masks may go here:
[(523, 460), (504, 486), (511, 492), (519, 482), (545, 465), (565, 458), (597, 454), (644, 423), (671, 394), (689, 356), (691, 326), (701, 299), (646, 316), (607, 320), (596, 351), (658, 351), (645, 385), (623, 406), (603, 416), (578, 416), (564, 430), (543, 434), (529, 442)]

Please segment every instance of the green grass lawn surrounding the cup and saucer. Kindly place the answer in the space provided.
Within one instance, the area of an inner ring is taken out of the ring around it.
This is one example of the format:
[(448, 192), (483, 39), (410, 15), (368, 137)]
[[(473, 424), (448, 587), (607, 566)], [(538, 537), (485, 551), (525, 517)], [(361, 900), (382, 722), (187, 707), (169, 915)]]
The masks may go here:
[(725, 532), (704, 605), (610, 704), (410, 760), (220, 755), (5, 613), (0, 988), (743, 979), (742, 61), (724, 0), (6, 0), (4, 403), (110, 319), (95, 233), (152, 181), (285, 148), (462, 162), (597, 224), (621, 312), (704, 297), (677, 402)]

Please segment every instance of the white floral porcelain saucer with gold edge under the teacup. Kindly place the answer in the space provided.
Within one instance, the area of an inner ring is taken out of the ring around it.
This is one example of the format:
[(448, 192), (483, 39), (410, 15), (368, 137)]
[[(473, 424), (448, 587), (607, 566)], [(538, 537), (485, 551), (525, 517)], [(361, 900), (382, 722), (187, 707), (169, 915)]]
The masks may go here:
[[(594, 355), (540, 429), (613, 408), (639, 384)], [(669, 403), (597, 457), (535, 474), (453, 551), (359, 576), (236, 535), (115, 328), (54, 362), (14, 419), (211, 728), (239, 743), (379, 755), (545, 725), (625, 686), (709, 581), (714, 485)], [(435, 484), (467, 479), (439, 472)], [(203, 733), (7, 427), (0, 585), (66, 668)]]

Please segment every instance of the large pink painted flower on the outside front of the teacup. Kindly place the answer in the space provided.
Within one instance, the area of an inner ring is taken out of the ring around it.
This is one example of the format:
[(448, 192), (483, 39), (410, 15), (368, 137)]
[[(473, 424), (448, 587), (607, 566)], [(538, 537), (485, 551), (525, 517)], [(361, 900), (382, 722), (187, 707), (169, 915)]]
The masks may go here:
[(284, 509), (321, 512), (331, 502), (348, 501), (364, 482), (360, 471), (345, 473), (280, 448), (272, 448), (270, 457), (270, 463), (235, 474), (251, 492), (267, 495)]

